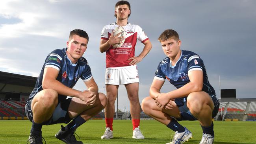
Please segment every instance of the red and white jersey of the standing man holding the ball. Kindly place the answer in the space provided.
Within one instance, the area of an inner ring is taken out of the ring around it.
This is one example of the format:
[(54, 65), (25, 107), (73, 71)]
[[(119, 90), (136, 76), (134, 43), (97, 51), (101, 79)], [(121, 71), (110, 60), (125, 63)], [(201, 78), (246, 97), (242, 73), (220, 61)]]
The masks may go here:
[[(117, 23), (112, 23), (104, 26), (101, 32), (101, 38), (107, 40), (109, 39), (111, 33), (117, 27)], [(127, 23), (126, 26), (122, 26), (126, 32), (124, 44), (120, 48), (110, 48), (106, 51), (106, 67), (121, 67), (129, 66), (128, 59), (134, 57), (135, 45), (137, 39), (142, 43), (148, 40), (147, 35), (141, 29), (140, 26)]]

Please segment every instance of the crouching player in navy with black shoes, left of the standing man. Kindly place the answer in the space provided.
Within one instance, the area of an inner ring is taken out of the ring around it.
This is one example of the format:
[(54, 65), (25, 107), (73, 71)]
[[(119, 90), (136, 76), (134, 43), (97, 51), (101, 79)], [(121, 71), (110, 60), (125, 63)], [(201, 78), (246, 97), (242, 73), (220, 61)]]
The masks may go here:
[[(83, 144), (76, 140), (74, 131), (106, 106), (107, 98), (98, 92), (91, 68), (82, 57), (88, 40), (85, 31), (72, 30), (67, 48), (54, 50), (46, 57), (25, 106), (26, 115), (32, 122), (30, 144), (43, 144), (43, 125), (67, 124), (71, 120), (67, 126), (61, 126), (55, 137), (67, 144)], [(72, 89), (79, 78), (87, 87), (83, 92)]]

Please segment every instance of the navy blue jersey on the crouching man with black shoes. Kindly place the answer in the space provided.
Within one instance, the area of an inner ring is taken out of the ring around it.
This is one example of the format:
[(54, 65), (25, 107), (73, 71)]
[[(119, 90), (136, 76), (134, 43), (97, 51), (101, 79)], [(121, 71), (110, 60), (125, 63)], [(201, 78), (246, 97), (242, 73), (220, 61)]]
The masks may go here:
[[(67, 57), (66, 48), (62, 50), (57, 49), (52, 51), (45, 59), (45, 63), (35, 83), (35, 88), (30, 94), (28, 100), (33, 99), (35, 94), (43, 90), (42, 80), (43, 74), (46, 67), (52, 67), (59, 71), (57, 80), (67, 87), (74, 87), (79, 78), (83, 81), (89, 81), (93, 78), (91, 74), (91, 68), (84, 57), (81, 57), (76, 64), (72, 64), (70, 59)], [(59, 96), (59, 101), (65, 100), (67, 96)]]

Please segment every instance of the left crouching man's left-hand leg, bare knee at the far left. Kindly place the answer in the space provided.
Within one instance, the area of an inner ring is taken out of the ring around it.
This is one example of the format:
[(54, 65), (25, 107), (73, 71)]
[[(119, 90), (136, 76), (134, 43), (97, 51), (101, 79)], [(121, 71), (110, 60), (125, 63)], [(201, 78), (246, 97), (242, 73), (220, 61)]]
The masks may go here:
[(38, 92), (32, 100), (31, 109), (33, 112), (32, 127), (29, 141), (32, 144), (42, 142), (43, 122), (49, 120), (58, 104), (58, 93), (52, 89), (44, 89)]

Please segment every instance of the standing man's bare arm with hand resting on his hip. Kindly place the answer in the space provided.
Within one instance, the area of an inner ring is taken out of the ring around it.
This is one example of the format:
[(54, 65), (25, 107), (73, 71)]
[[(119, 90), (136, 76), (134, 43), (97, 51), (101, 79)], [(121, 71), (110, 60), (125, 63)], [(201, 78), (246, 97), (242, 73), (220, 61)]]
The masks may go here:
[(152, 44), (149, 41), (149, 39), (145, 42), (143, 42), (143, 44), (145, 45), (143, 48), (143, 51), (141, 52), (141, 54), (139, 54), (139, 56), (137, 57), (131, 57), (128, 59), (128, 61), (130, 61), (132, 59), (132, 61), (130, 61), (129, 65), (136, 65), (137, 63), (141, 62), (142, 59), (148, 54), (148, 52), (151, 50), (152, 48)]

